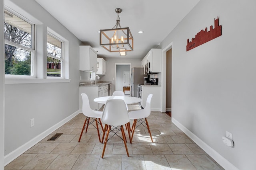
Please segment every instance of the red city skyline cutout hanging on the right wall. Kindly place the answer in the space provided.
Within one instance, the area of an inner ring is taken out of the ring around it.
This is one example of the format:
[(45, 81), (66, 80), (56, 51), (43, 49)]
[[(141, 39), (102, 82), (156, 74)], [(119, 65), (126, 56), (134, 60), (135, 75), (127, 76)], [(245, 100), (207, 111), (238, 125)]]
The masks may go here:
[(187, 51), (198, 47), (208, 41), (211, 41), (214, 38), (217, 38), (221, 35), (221, 25), (219, 25), (219, 17), (215, 20), (214, 18), (214, 28), (212, 25), (210, 26), (210, 31), (207, 31), (207, 27), (205, 30), (201, 30), (196, 34), (195, 38), (192, 38), (191, 41), (188, 39)]

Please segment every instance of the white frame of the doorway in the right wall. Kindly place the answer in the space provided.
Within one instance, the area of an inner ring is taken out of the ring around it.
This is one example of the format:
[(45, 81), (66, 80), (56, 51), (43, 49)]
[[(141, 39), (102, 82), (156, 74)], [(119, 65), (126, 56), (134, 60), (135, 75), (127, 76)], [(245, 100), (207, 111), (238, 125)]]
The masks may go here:
[[(173, 42), (168, 44), (164, 49), (162, 49), (162, 88), (161, 88), (161, 95), (162, 95), (162, 106), (161, 106), (161, 112), (166, 112), (166, 52), (172, 49)], [(173, 53), (173, 50), (172, 50)], [(173, 56), (173, 55), (172, 55)], [(173, 57), (172, 57), (173, 59)], [(173, 62), (172, 62), (173, 64)], [(172, 67), (173, 68), (173, 67)]]

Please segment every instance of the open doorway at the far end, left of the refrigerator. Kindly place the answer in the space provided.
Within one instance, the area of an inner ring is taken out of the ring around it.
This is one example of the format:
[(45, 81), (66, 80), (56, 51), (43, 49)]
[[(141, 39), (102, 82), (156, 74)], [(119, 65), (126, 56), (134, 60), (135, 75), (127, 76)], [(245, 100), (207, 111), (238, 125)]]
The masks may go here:
[(131, 63), (115, 63), (115, 91), (123, 91), (124, 83), (130, 87), (130, 70)]

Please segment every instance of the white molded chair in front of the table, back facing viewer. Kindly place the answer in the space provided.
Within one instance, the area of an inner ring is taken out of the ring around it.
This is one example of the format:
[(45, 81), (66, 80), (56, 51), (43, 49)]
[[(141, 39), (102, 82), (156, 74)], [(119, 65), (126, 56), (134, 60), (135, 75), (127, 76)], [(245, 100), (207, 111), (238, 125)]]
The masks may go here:
[[(128, 123), (127, 125), (130, 127), (130, 118), (129, 118), (128, 111), (126, 109), (124, 100), (121, 100), (121, 99), (107, 100), (106, 104), (104, 106), (104, 109), (103, 109), (101, 121), (102, 121), (102, 123), (105, 123), (102, 141), (104, 139), (104, 134), (107, 131), (101, 158), (103, 158), (103, 156), (104, 156), (104, 152), (105, 152), (106, 145), (108, 142), (108, 135), (109, 135), (109, 132), (111, 131), (112, 126), (120, 127), (120, 130), (122, 132), (122, 137), (124, 140), (124, 146), (126, 149), (126, 153), (129, 157), (129, 152), (128, 152), (128, 148), (126, 145), (126, 137), (125, 137), (123, 125)], [(128, 134), (129, 134), (129, 139), (131, 142), (130, 129), (128, 130)]]

